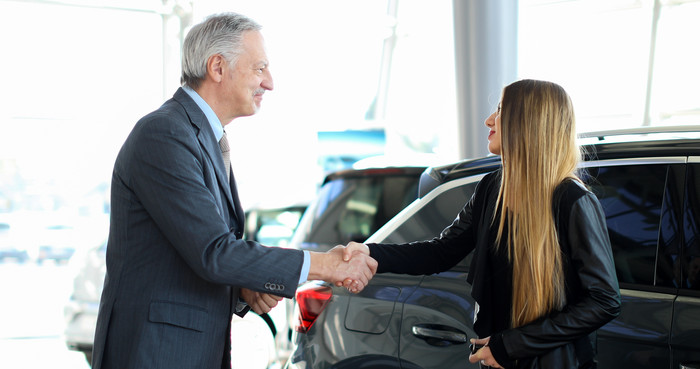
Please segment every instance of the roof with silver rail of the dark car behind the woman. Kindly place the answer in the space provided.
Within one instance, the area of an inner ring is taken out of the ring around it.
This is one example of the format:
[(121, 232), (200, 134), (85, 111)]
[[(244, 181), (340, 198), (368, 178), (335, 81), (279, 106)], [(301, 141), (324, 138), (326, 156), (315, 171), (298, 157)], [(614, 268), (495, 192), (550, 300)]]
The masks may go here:
[[(700, 126), (641, 127), (586, 132), (578, 135), (584, 160), (700, 155)], [(457, 178), (494, 171), (501, 157), (489, 155), (426, 169), (418, 185), (418, 197)]]

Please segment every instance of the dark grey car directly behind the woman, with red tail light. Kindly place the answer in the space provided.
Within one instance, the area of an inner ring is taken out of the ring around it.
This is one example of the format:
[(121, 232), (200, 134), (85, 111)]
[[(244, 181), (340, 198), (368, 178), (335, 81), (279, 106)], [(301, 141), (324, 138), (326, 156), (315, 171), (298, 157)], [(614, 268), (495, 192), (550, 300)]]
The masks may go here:
[[(604, 208), (622, 293), (620, 316), (591, 337), (598, 367), (700, 368), (700, 127), (582, 139), (584, 179)], [(368, 241), (434, 237), (499, 166), (486, 157), (427, 170), (419, 200)], [(429, 276), (377, 274), (357, 295), (303, 286), (286, 368), (478, 367), (468, 362), (469, 257)]]

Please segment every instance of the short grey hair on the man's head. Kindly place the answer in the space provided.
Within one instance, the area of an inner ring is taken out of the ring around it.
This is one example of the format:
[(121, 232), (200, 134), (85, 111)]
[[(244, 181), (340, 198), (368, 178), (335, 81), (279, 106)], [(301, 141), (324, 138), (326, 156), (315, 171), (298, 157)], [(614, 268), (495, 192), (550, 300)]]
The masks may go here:
[(254, 20), (237, 13), (221, 13), (207, 17), (192, 27), (182, 46), (180, 83), (196, 89), (207, 73), (207, 61), (221, 54), (230, 66), (241, 54), (241, 40), (246, 31), (262, 28)]

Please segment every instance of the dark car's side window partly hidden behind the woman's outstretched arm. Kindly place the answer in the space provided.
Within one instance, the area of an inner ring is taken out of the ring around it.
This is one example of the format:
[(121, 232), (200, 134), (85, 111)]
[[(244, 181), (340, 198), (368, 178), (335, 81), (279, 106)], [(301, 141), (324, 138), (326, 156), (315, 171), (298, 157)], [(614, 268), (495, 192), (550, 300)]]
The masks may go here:
[[(429, 240), (439, 236), (440, 232), (455, 220), (474, 193), (476, 184), (477, 182), (471, 182), (440, 193), (406, 219), (382, 242), (404, 243)], [(465, 270), (468, 267), (469, 258), (470, 256), (467, 256), (453, 269)]]

